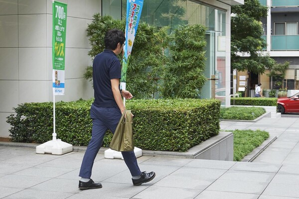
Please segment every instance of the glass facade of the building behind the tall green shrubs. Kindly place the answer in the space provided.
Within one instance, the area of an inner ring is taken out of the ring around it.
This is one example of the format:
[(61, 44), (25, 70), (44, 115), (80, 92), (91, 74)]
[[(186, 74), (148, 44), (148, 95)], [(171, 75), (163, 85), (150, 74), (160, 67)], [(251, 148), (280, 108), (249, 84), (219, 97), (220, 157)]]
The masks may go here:
[[(115, 19), (126, 17), (127, 0), (103, 0), (102, 15)], [(141, 21), (170, 31), (183, 24), (202, 24), (207, 28), (206, 78), (216, 75), (216, 98), (225, 103), (226, 12), (192, 0), (144, 0)], [(222, 91), (223, 90), (223, 91)], [(217, 92), (221, 96), (217, 96)], [(211, 81), (207, 81), (201, 98), (211, 98)]]

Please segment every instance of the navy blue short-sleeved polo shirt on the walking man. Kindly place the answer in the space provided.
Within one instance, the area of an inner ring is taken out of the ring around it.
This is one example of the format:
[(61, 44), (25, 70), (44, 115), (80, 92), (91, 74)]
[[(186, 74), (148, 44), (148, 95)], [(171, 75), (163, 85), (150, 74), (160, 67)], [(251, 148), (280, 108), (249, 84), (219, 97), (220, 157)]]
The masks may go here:
[(105, 49), (93, 62), (95, 106), (117, 106), (111, 87), (112, 79), (121, 79), (121, 62), (112, 50)]

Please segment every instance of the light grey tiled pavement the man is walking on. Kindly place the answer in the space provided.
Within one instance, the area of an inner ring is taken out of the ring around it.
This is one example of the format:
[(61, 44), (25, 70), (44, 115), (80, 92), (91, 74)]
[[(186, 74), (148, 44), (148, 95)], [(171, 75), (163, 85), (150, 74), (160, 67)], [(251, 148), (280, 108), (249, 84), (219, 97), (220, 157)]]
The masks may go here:
[(34, 148), (0, 146), (0, 199), (299, 199), (299, 118), (221, 121), (223, 130), (261, 129), (278, 138), (254, 162), (142, 156), (156, 177), (132, 185), (123, 160), (99, 153), (92, 179), (102, 189), (80, 191), (84, 152), (35, 154)]

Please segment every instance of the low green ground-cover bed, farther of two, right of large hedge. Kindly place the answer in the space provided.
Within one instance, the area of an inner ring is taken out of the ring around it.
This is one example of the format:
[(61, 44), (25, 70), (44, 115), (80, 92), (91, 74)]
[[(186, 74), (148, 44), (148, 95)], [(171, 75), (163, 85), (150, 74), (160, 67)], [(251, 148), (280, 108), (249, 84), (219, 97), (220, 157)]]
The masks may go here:
[(220, 109), (221, 119), (254, 120), (266, 113), (262, 107), (231, 106)]

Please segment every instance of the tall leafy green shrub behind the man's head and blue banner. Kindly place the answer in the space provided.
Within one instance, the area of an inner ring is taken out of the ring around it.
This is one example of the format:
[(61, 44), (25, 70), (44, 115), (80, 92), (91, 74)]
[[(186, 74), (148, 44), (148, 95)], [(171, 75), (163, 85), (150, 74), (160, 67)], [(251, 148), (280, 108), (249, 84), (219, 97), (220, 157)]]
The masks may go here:
[[(118, 28), (125, 31), (125, 20), (114, 20), (111, 16), (94, 14), (86, 31), (92, 46), (89, 55), (94, 58), (105, 49), (104, 37), (108, 30)], [(167, 28), (140, 23), (134, 41), (130, 65), (127, 71), (127, 89), (137, 99), (150, 99), (157, 92), (157, 77), (165, 63), (163, 49), (167, 48)], [(119, 55), (121, 60), (122, 54)], [(92, 66), (86, 68), (84, 77), (92, 81)]]

